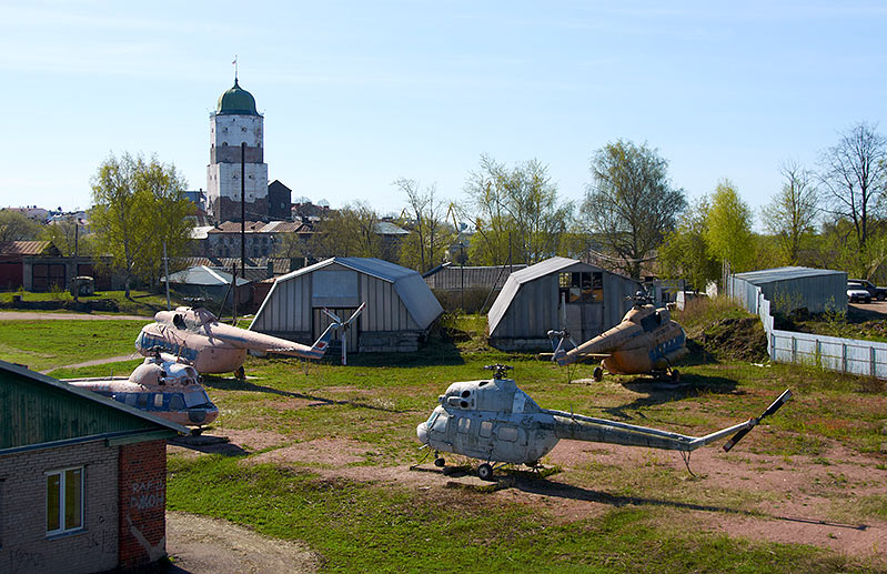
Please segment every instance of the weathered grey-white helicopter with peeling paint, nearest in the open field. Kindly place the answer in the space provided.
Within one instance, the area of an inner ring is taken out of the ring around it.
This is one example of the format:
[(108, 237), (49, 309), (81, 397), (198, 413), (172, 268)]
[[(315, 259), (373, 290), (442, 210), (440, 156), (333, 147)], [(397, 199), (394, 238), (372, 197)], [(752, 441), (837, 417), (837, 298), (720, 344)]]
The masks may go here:
[(492, 480), (494, 470), (505, 464), (538, 469), (540, 459), (561, 439), (679, 451), (689, 469), (692, 451), (733, 435), (724, 445), (729, 451), (792, 399), (792, 391), (786, 390), (760, 416), (697, 437), (542, 409), (514, 380), (505, 377), (511, 366), (493, 364), (484, 369), (494, 371), (493, 379), (451, 384), (437, 399), (441, 404), (416, 426), (419, 441), (434, 450), (435, 466), (446, 465), (442, 451), (478, 459), (483, 462), (477, 476), (484, 481)]

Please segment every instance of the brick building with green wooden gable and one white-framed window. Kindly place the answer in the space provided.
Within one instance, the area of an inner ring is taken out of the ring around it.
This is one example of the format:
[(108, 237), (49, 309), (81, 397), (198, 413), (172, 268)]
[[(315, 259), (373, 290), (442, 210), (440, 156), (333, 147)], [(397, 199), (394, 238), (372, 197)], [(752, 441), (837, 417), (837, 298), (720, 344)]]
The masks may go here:
[(0, 421), (0, 568), (104, 572), (165, 556), (165, 440), (187, 429), (3, 361)]

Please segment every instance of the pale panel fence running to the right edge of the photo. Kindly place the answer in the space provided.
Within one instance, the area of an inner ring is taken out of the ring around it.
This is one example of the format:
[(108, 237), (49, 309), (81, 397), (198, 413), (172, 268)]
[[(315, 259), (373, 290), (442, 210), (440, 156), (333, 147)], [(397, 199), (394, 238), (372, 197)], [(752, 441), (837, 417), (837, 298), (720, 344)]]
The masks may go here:
[(887, 379), (887, 343), (775, 329), (770, 302), (759, 288), (756, 289), (757, 312), (767, 333), (767, 353), (772, 361)]

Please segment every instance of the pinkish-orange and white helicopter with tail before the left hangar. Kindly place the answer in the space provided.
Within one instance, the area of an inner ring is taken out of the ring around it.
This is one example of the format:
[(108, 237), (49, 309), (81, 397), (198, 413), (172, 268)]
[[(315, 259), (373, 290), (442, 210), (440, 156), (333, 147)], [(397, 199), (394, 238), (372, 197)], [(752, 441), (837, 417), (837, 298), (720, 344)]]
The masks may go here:
[(365, 305), (361, 304), (347, 321), (339, 320), (327, 325), (311, 346), (220, 323), (215, 315), (202, 308), (180, 306), (175, 311), (158, 312), (154, 322), (142, 328), (135, 339), (135, 349), (144, 356), (152, 356), (159, 346), (174, 358), (188, 361), (200, 373), (233, 372), (234, 376), (243, 379), (248, 352), (321, 359), (330, 346), (333, 331), (341, 329), (344, 333)]

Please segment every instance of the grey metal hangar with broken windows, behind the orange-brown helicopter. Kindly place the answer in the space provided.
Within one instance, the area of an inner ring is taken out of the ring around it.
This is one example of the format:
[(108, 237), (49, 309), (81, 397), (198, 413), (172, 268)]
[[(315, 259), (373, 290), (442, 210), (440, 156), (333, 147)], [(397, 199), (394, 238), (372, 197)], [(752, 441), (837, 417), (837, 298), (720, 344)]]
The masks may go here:
[(505, 281), (490, 308), (490, 344), (503, 351), (551, 350), (547, 332), (566, 329), (581, 343), (616, 325), (641, 284), (575, 259), (552, 258)]

